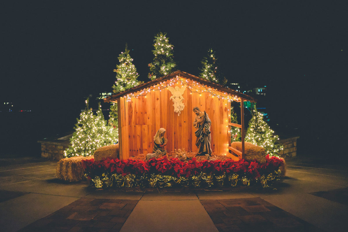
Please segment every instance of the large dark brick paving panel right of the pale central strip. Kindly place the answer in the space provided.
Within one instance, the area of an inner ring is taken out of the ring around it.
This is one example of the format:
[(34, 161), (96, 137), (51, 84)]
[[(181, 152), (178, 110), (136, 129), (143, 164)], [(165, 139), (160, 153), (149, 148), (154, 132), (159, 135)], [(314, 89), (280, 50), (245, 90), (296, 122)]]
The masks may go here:
[(258, 197), (201, 203), (219, 231), (321, 231)]

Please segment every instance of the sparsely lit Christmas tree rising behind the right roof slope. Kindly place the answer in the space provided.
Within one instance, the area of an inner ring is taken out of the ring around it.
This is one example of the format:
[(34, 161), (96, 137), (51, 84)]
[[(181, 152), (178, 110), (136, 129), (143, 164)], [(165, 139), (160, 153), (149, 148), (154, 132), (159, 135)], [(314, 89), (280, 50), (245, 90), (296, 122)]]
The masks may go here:
[(207, 56), (203, 57), (201, 61), (202, 67), (199, 69), (199, 76), (208, 81), (219, 83), (220, 85), (225, 85), (227, 80), (223, 76), (219, 64), (217, 63), (217, 58), (215, 52), (212, 48), (207, 51)]

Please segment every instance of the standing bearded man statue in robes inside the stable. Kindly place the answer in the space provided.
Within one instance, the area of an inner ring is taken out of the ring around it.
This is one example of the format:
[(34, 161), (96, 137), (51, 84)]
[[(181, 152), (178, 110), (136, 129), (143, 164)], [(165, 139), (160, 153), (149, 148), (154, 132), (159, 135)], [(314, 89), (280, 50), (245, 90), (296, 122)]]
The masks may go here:
[(199, 108), (193, 107), (193, 112), (196, 114), (196, 118), (193, 121), (193, 126), (197, 128), (195, 134), (196, 134), (196, 146), (198, 148), (198, 155), (211, 155), (212, 154), (212, 148), (211, 148), (211, 141), (212, 137), (210, 135), (210, 125), (211, 121), (208, 117), (208, 114), (204, 111), (199, 110)]

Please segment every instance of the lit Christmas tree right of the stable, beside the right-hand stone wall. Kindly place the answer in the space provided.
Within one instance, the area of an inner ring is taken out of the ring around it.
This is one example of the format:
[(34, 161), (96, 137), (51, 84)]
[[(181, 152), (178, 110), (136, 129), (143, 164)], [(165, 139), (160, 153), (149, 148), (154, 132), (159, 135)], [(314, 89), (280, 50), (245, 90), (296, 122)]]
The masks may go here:
[(263, 147), (269, 155), (277, 156), (278, 152), (283, 150), (283, 145), (277, 142), (278, 135), (273, 135), (273, 133), (274, 131), (263, 120), (263, 114), (258, 112), (254, 106), (245, 141)]

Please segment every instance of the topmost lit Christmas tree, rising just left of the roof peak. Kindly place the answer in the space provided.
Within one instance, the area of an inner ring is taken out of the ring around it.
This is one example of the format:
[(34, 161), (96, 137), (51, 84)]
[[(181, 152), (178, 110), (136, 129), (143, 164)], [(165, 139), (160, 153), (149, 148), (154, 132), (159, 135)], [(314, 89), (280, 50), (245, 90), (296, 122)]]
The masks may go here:
[(150, 72), (148, 74), (151, 80), (172, 73), (176, 67), (176, 63), (173, 61), (174, 46), (169, 43), (166, 33), (159, 32), (156, 34), (154, 42), (153, 47), (155, 49), (152, 50), (152, 53), (155, 55), (155, 58), (149, 64)]

